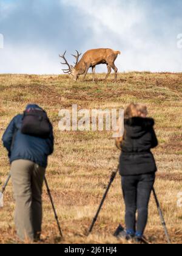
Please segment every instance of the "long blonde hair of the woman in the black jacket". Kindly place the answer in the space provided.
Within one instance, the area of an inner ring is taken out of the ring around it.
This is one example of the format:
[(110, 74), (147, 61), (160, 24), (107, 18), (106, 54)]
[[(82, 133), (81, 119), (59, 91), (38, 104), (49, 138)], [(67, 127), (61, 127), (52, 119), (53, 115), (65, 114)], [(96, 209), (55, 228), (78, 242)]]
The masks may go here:
[[(144, 104), (134, 104), (131, 103), (127, 106), (126, 110), (124, 111), (124, 119), (129, 119), (133, 117), (142, 117), (143, 115), (147, 115), (147, 106)], [(124, 130), (124, 135), (126, 131)], [(123, 137), (116, 138), (116, 147), (121, 150), (121, 143), (124, 140)]]

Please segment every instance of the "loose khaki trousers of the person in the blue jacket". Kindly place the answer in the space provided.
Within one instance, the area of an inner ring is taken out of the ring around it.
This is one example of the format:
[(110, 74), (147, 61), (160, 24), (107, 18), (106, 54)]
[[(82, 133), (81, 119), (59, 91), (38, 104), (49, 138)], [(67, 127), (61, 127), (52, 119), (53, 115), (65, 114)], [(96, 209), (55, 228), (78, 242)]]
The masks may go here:
[(29, 160), (16, 160), (12, 163), (11, 175), (17, 234), (22, 241), (38, 240), (41, 235), (45, 168)]

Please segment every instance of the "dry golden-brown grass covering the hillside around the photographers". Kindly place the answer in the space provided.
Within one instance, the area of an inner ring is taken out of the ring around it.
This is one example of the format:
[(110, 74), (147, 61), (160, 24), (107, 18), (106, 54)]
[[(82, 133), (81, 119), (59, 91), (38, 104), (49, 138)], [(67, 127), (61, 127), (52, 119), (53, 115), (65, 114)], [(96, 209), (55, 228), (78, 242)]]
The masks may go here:
[[(132, 101), (148, 105), (156, 119), (160, 146), (154, 154), (158, 165), (155, 183), (158, 197), (174, 243), (182, 241), (182, 213), (177, 194), (182, 191), (181, 128), (182, 74), (119, 74), (105, 84), (104, 74), (95, 84), (89, 75), (76, 84), (67, 76), (0, 75), (0, 135), (29, 102), (40, 104), (49, 113), (55, 129), (55, 153), (49, 159), (47, 179), (64, 232), (64, 243), (124, 243), (113, 238), (119, 222), (124, 223), (124, 204), (120, 177), (110, 189), (93, 234), (86, 237), (93, 215), (109, 182), (110, 172), (118, 164), (120, 152), (109, 132), (59, 132), (60, 108), (126, 107)], [(0, 179), (4, 183), (9, 171), (7, 152), (0, 146)], [(59, 243), (49, 197), (44, 190), (44, 243)], [(0, 243), (18, 243), (13, 222), (12, 184), (5, 193), (5, 207), (0, 210)], [(150, 201), (146, 236), (152, 243), (166, 243), (153, 197)], [(61, 243), (63, 243), (61, 242)]]

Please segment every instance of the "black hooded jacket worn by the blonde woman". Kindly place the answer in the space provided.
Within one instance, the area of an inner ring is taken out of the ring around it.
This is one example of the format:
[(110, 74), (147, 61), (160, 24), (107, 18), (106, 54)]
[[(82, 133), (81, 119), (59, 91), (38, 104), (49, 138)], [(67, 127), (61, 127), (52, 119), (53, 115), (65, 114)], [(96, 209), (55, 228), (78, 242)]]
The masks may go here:
[(158, 141), (153, 129), (152, 118), (130, 118), (124, 120), (124, 139), (121, 143), (120, 174), (133, 176), (157, 171), (150, 149)]

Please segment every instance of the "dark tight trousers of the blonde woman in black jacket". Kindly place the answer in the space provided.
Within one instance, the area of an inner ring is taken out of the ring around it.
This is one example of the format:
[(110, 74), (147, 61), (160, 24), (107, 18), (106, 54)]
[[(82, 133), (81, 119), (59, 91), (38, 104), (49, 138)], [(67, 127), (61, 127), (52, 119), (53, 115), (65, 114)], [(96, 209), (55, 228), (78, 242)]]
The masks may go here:
[[(122, 177), (123, 196), (126, 205), (126, 229), (141, 236), (147, 224), (148, 206), (154, 182), (154, 173)], [(138, 212), (137, 221), (136, 211)]]

